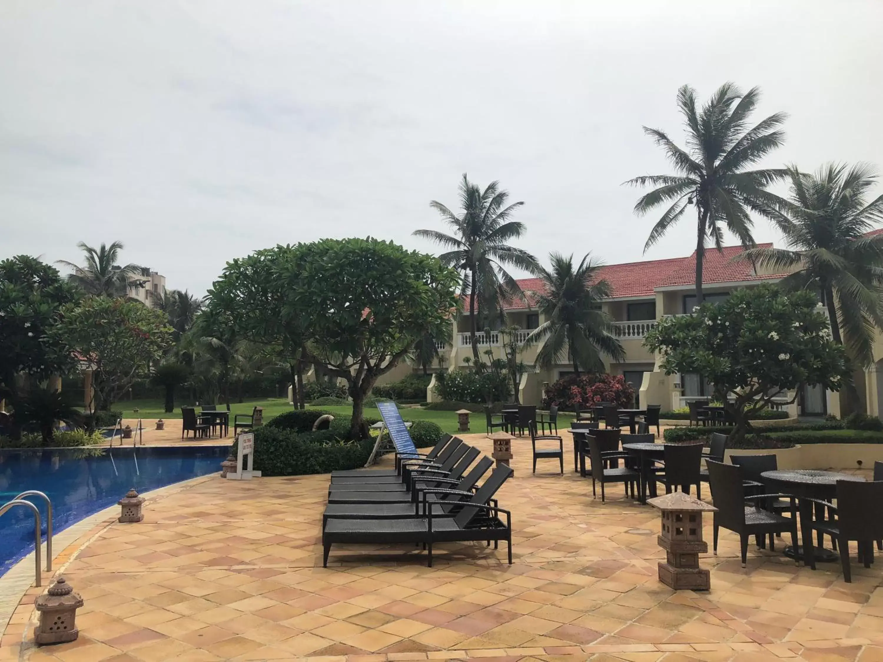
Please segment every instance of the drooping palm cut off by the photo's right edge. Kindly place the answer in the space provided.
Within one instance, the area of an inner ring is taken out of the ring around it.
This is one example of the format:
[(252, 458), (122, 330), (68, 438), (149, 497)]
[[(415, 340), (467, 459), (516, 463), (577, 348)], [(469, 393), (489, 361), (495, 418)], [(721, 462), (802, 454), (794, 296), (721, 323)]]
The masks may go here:
[(791, 272), (785, 287), (819, 292), (834, 341), (870, 365), (875, 329), (883, 329), (883, 234), (867, 236), (883, 221), (883, 195), (866, 201), (877, 173), (864, 163), (828, 163), (813, 175), (792, 166), (788, 177), (789, 199), (775, 218), (788, 249), (755, 248), (740, 259)]

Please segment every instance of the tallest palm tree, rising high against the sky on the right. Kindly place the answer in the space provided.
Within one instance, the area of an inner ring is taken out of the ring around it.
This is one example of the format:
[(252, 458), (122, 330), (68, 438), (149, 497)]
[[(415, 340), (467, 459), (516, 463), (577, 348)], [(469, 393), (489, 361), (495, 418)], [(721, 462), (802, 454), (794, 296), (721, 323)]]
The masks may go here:
[(775, 113), (749, 129), (749, 116), (760, 97), (757, 87), (747, 93), (732, 83), (724, 83), (702, 107), (696, 107), (696, 91), (683, 86), (677, 93), (677, 106), (687, 127), (686, 148), (682, 149), (659, 129), (643, 127), (662, 147), (675, 168), (675, 175), (645, 175), (626, 184), (656, 186), (635, 205), (643, 215), (662, 204), (671, 206), (653, 226), (644, 246), (646, 252), (681, 219), (687, 207), (696, 207), (696, 303), (702, 303), (702, 267), (706, 241), (720, 251), (723, 228), (732, 232), (743, 246), (753, 247), (750, 212), (770, 216), (775, 196), (766, 186), (785, 177), (785, 169), (746, 169), (784, 141), (778, 128), (787, 117)]

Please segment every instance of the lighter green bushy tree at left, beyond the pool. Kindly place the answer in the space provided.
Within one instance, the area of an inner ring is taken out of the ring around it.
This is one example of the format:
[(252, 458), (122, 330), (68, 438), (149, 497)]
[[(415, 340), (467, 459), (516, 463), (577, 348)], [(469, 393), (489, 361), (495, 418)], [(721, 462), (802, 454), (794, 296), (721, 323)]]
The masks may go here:
[(67, 305), (50, 335), (92, 366), (96, 410), (116, 402), (171, 344), (164, 312), (108, 297)]

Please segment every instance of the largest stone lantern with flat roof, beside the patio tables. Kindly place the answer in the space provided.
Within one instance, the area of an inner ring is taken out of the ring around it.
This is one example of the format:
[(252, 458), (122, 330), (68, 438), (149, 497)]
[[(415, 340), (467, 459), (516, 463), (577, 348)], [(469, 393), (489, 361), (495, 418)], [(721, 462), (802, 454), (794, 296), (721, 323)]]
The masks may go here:
[(667, 558), (659, 563), (660, 582), (675, 591), (709, 591), (711, 574), (699, 568), (699, 553), (708, 551), (708, 543), (702, 539), (702, 514), (717, 508), (683, 492), (665, 494), (647, 503), (662, 511), (657, 541)]

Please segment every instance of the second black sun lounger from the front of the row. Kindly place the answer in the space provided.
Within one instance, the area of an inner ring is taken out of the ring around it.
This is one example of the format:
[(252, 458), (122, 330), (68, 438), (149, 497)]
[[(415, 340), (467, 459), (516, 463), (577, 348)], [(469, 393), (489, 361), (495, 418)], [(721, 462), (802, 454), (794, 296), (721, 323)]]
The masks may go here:
[[(429, 508), (433, 508), (433, 514), (439, 516), (456, 515), (462, 506), (460, 501), (464, 500), (462, 494), (472, 494), (472, 490), (475, 488), (476, 483), (479, 482), (479, 478), (484, 476), (485, 472), (492, 466), (494, 466), (493, 460), (489, 457), (482, 457), (458, 483), (448, 478), (436, 478), (436, 483), (450, 486), (458, 494), (442, 494), (441, 496), (430, 494), (427, 498), (427, 504)], [(496, 490), (494, 489), (495, 492)], [(491, 496), (493, 496), (493, 493)], [(417, 517), (420, 515), (422, 505), (421, 501), (413, 501), (411, 503), (329, 503), (325, 507), (325, 514), (322, 515), (322, 529), (325, 529), (329, 517), (346, 520)]]

